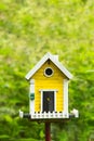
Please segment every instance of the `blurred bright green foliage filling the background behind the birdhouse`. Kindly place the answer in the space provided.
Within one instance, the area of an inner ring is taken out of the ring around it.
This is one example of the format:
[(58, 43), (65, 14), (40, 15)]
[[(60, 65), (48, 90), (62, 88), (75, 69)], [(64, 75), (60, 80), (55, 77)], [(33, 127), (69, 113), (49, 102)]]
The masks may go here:
[(94, 1), (0, 1), (0, 141), (44, 141), (44, 126), (28, 112), (25, 75), (51, 52), (73, 74), (69, 110), (79, 119), (52, 124), (54, 141), (94, 141)]

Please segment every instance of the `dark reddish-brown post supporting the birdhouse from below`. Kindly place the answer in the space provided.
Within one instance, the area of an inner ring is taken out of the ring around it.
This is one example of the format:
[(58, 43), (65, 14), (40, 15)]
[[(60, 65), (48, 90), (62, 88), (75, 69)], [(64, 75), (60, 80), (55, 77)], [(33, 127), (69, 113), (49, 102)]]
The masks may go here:
[(51, 141), (51, 123), (45, 121), (45, 141)]

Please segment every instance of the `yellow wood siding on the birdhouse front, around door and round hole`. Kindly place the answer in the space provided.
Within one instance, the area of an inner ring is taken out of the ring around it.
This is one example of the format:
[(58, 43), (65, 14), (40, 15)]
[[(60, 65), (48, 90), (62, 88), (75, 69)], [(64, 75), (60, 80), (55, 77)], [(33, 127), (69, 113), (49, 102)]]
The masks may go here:
[[(51, 67), (54, 70), (53, 76), (46, 77), (44, 75), (44, 69)], [(56, 92), (56, 112), (62, 112), (63, 107), (63, 79), (64, 74), (50, 61), (46, 61), (42, 67), (31, 77), (35, 79), (35, 112), (41, 111), (41, 92), (40, 89), (55, 89)]]

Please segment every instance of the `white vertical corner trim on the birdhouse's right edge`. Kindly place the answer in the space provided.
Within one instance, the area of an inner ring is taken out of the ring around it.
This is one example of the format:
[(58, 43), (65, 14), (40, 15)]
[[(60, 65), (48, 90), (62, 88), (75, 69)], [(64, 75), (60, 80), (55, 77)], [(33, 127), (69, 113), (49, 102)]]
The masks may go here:
[(64, 113), (65, 115), (68, 116), (68, 80), (64, 79), (63, 82), (63, 87), (64, 87)]

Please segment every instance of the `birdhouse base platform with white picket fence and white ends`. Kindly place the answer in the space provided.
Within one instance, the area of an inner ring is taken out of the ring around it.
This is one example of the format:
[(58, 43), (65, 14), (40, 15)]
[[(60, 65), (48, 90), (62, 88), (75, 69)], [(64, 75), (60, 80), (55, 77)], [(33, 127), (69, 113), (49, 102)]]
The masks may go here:
[(23, 113), (22, 111), (19, 111), (19, 116), (22, 118), (28, 118), (30, 120), (35, 120), (35, 121), (58, 121), (58, 120), (64, 120), (64, 119), (69, 119), (71, 117), (79, 117), (79, 113), (77, 110), (71, 111), (71, 113), (69, 114), (65, 114), (64, 112), (35, 112), (33, 114), (29, 114), (29, 113)]

